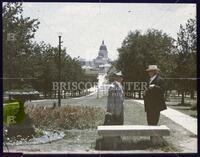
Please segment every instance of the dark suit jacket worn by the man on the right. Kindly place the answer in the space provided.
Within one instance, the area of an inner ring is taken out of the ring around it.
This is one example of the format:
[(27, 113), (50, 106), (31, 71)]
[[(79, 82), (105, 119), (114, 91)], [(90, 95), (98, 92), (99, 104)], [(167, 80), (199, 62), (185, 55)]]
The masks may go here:
[(164, 79), (157, 75), (156, 78), (149, 84), (154, 84), (153, 88), (147, 88), (144, 95), (145, 111), (162, 111), (167, 108), (165, 104), (165, 83)]

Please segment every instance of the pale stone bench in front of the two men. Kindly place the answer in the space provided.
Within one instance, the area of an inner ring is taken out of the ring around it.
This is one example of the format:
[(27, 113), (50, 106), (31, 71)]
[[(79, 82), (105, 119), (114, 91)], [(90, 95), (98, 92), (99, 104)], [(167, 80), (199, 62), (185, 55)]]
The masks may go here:
[(103, 125), (98, 126), (97, 130), (100, 136), (108, 139), (116, 136), (150, 136), (153, 144), (161, 144), (161, 137), (170, 135), (170, 129), (165, 125)]

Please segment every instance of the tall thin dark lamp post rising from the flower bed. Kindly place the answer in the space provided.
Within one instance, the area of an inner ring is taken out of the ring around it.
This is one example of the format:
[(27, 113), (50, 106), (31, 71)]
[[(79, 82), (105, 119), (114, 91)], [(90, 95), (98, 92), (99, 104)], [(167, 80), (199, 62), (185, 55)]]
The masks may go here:
[(58, 33), (59, 46), (58, 46), (58, 106), (61, 106), (61, 93), (60, 93), (60, 81), (61, 81), (61, 35)]

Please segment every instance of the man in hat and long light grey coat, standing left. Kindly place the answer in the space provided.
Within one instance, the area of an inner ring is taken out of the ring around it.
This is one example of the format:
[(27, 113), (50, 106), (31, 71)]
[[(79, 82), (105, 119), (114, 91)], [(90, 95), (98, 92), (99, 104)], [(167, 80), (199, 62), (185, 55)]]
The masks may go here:
[(105, 125), (123, 125), (124, 123), (124, 92), (122, 87), (122, 72), (113, 74), (114, 82), (108, 90), (107, 113)]

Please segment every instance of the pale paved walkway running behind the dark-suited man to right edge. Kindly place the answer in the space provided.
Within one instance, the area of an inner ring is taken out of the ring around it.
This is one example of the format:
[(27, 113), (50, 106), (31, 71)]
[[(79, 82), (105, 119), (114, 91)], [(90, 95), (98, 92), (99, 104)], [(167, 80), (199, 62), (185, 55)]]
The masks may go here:
[[(139, 102), (141, 104), (144, 104), (144, 100), (134, 100), (134, 101)], [(141, 106), (143, 106), (143, 105), (141, 105)], [(197, 135), (197, 132), (198, 132), (197, 125), (198, 125), (198, 123), (197, 123), (196, 118), (188, 116), (188, 115), (181, 113), (177, 110), (174, 110), (170, 107), (167, 107), (167, 110), (162, 111), (161, 114), (168, 117), (169, 119), (171, 119), (175, 123), (181, 125), (185, 129), (192, 132), (193, 134)]]

